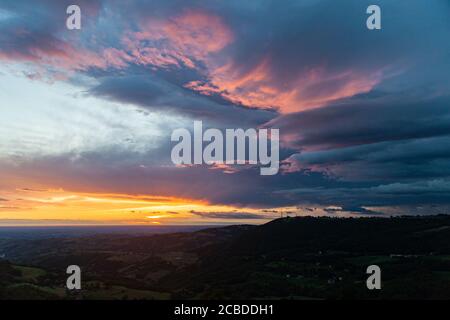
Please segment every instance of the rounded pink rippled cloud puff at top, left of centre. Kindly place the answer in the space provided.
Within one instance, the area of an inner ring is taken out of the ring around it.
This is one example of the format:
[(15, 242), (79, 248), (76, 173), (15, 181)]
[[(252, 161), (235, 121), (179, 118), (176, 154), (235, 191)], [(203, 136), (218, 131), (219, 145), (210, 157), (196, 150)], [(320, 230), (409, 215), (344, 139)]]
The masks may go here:
[(232, 40), (232, 32), (220, 17), (189, 10), (167, 20), (143, 22), (140, 31), (126, 34), (123, 44), (136, 63), (195, 68)]

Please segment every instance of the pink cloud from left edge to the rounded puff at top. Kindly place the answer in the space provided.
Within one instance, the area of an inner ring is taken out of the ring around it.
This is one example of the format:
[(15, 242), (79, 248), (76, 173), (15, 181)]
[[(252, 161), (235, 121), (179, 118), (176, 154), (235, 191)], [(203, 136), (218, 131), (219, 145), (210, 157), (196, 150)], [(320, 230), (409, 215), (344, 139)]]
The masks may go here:
[(225, 48), (233, 40), (230, 29), (218, 16), (203, 11), (185, 11), (166, 20), (149, 19), (137, 32), (125, 31), (121, 48), (97, 51), (72, 45), (53, 36), (35, 39), (17, 30), (24, 47), (0, 50), (0, 59), (32, 62), (66, 71), (88, 68), (125, 68), (129, 64), (197, 68), (207, 64), (211, 54)]

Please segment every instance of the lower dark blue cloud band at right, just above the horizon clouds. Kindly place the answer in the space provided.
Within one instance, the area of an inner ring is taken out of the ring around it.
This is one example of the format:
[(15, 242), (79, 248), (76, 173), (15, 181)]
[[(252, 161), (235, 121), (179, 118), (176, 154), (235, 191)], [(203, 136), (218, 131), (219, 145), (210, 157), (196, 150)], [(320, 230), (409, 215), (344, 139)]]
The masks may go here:
[(290, 158), (302, 168), (333, 172), (350, 180), (412, 180), (450, 177), (450, 137), (383, 142), (324, 151), (304, 151)]

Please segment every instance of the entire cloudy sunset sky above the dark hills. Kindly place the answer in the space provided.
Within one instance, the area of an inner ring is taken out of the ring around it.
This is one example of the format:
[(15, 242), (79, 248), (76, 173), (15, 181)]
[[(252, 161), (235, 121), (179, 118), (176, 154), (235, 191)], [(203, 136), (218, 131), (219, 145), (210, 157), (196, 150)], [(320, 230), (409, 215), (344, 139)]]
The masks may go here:
[[(0, 225), (447, 214), (449, 39), (447, 0), (0, 0)], [(279, 173), (174, 165), (198, 120)]]

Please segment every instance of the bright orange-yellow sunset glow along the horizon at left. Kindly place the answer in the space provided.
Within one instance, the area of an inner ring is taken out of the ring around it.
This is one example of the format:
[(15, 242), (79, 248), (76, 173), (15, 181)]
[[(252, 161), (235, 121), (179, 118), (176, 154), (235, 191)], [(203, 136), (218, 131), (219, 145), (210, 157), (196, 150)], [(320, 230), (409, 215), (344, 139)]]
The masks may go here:
[[(15, 189), (3, 191), (2, 198), (4, 201), (0, 202), (0, 226), (231, 223), (235, 221), (232, 215), (242, 212), (241, 208), (213, 205), (195, 199), (83, 193), (62, 189)], [(249, 208), (245, 212), (250, 215), (263, 213), (261, 209)], [(231, 219), (226, 217), (227, 214), (231, 215)], [(242, 220), (242, 223), (265, 221), (254, 217), (249, 219), (250, 221)]]

